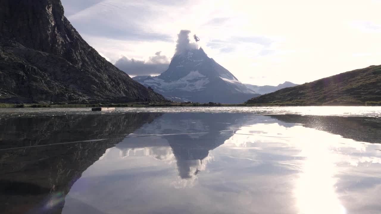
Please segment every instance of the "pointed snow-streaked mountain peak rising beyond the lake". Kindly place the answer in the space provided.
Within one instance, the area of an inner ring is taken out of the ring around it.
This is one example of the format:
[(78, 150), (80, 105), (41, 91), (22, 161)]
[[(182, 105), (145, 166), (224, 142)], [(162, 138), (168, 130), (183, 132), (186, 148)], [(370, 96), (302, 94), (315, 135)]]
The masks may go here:
[(209, 58), (202, 48), (175, 54), (168, 69), (159, 76), (136, 76), (133, 80), (179, 102), (235, 104), (259, 96)]

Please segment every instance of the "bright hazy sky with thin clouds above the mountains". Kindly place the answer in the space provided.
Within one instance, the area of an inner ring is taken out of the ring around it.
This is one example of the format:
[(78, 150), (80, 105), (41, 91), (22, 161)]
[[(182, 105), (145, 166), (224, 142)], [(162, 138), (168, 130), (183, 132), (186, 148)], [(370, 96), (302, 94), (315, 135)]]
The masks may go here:
[(381, 0), (61, 0), (82, 37), (115, 63), (173, 56), (191, 30), (242, 83), (302, 84), (381, 64)]

